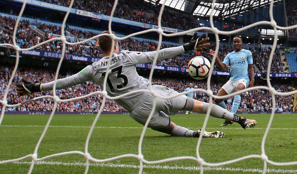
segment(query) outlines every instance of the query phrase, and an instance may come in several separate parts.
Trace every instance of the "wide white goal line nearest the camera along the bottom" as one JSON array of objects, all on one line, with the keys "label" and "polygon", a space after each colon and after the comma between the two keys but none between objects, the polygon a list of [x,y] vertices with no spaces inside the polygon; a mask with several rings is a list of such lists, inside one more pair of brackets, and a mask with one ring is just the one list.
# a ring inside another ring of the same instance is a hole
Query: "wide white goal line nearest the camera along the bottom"
[{"label": "wide white goal line nearest the camera along the bottom", "polygon": [[[31,162],[14,162],[15,164],[31,164]],[[64,166],[85,166],[83,162],[47,162],[37,161],[37,165],[64,165]],[[139,165],[127,165],[127,164],[113,164],[113,163],[90,163],[89,166],[99,167],[114,167],[114,168],[135,168],[139,169]],[[143,168],[147,169],[164,169],[164,170],[189,170],[199,171],[199,166],[162,166],[162,165],[143,165]],[[204,170],[215,171],[235,171],[235,172],[248,172],[248,173],[262,173],[263,169],[244,169],[244,168],[232,168],[232,167],[204,167]],[[267,169],[267,173],[297,173],[297,170],[282,170],[282,169]]]}]

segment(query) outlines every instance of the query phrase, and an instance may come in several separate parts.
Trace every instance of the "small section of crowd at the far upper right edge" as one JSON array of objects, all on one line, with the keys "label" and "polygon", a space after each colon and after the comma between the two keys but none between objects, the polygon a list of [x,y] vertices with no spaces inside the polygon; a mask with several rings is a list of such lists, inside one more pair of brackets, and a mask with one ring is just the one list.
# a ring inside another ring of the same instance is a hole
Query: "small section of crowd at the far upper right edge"
[{"label": "small section of crowd at the far upper right edge", "polygon": [[[287,24],[288,26],[297,24],[297,1],[286,0]],[[288,30],[290,37],[297,37],[297,29]]]}]

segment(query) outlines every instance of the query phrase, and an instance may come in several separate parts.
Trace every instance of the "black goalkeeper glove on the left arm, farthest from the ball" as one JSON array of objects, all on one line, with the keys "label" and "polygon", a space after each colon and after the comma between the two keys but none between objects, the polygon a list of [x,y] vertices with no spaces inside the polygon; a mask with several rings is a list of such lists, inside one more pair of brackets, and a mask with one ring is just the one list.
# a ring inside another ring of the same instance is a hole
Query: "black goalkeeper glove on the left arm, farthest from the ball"
[{"label": "black goalkeeper glove on the left arm, farthest from the ball", "polygon": [[34,92],[40,92],[40,84],[41,83],[33,83],[25,78],[22,79],[23,84],[18,83],[16,86],[17,93],[19,95],[27,95]]}]

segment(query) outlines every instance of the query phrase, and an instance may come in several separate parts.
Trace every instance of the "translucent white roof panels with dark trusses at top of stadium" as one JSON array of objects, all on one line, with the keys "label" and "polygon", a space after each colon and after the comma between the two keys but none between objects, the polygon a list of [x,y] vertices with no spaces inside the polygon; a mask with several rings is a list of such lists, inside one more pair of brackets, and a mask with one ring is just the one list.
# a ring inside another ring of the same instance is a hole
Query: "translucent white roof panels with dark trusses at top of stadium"
[{"label": "translucent white roof panels with dark trusses at top of stadium", "polygon": [[[152,4],[163,4],[164,0],[144,0]],[[230,17],[244,13],[249,9],[270,4],[271,0],[217,0],[214,7],[214,16]],[[282,0],[274,0],[275,2]],[[165,5],[196,16],[211,15],[212,0],[167,0]]]}]

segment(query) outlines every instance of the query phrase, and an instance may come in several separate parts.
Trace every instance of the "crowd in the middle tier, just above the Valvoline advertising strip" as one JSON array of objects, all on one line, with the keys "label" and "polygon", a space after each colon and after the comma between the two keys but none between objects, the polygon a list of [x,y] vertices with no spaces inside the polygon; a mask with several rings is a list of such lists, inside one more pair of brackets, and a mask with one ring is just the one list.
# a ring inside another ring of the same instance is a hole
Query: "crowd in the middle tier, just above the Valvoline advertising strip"
[{"label": "crowd in the middle tier, just above the Valvoline advertising strip", "polygon": [[[12,34],[13,34],[13,24],[15,23],[15,19],[12,17],[0,16],[0,42],[1,43],[12,43]],[[17,39],[16,42],[21,48],[29,48],[40,42],[45,40],[51,39],[53,34],[60,34],[61,27],[57,25],[48,25],[45,23],[36,23],[35,24],[40,30],[45,32],[45,36],[41,35],[40,33],[36,32],[35,30],[30,28],[30,22],[28,20],[20,21],[18,32],[17,32]],[[68,26],[66,27],[66,35],[71,33],[72,35],[76,36],[78,39],[86,39],[92,36],[95,36],[99,33],[95,33],[93,31],[82,31],[78,29],[72,29]],[[174,45],[171,44],[162,44],[161,48],[166,47],[173,47]],[[157,49],[157,43],[153,41],[139,41],[137,39],[126,39],[119,41],[120,50],[130,50],[130,51],[154,51]],[[214,47],[214,45],[212,45]],[[61,41],[52,41],[48,42],[40,47],[37,47],[36,50],[44,50],[49,52],[61,52],[62,50],[62,42]],[[228,54],[228,52],[232,52],[232,49],[228,48],[220,48],[219,49],[219,57],[221,60]],[[267,71],[268,67],[268,58],[271,52],[270,47],[262,48],[261,52],[258,50],[251,50],[253,53],[254,62],[260,69],[262,73]],[[74,55],[83,55],[83,56],[91,56],[91,57],[102,57],[102,52],[100,47],[96,45],[96,42],[86,42],[85,44],[76,44],[76,45],[66,45],[66,53],[67,54],[74,54]],[[158,65],[165,65],[165,66],[175,66],[175,67],[187,67],[187,63],[191,58],[196,55],[202,55],[209,60],[211,60],[211,56],[208,52],[197,51],[197,52],[189,52],[184,53],[182,55],[175,56],[170,59],[165,60],[158,60]],[[217,65],[215,64],[214,69],[218,69]],[[229,71],[229,69],[226,69]],[[274,53],[274,58],[271,66],[271,72],[273,73],[281,73],[283,72],[282,64],[280,60],[279,52],[276,50]]]}]

